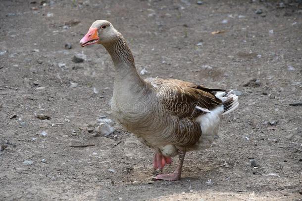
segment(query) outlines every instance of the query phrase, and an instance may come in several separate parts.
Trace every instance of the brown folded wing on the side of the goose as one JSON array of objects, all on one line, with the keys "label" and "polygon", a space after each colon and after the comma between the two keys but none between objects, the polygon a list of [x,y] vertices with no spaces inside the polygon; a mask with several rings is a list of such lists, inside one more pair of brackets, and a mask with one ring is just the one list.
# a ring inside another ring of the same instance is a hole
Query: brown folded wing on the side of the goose
[{"label": "brown folded wing on the side of the goose", "polygon": [[153,86],[153,90],[159,100],[161,109],[166,110],[178,118],[195,119],[204,111],[196,109],[199,106],[211,110],[222,104],[214,94],[220,89],[208,89],[201,85],[177,79],[146,79]]}]

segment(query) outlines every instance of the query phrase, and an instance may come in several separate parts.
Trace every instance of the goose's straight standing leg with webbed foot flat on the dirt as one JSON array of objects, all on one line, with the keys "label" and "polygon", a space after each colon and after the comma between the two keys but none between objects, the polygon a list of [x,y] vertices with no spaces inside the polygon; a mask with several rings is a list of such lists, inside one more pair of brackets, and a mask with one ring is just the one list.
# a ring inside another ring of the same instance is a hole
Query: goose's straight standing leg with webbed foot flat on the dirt
[{"label": "goose's straight standing leg with webbed foot flat on the dirt", "polygon": [[158,174],[152,180],[166,180],[177,181],[180,179],[183,162],[185,159],[186,151],[178,151],[178,164],[176,169],[171,174]]}]

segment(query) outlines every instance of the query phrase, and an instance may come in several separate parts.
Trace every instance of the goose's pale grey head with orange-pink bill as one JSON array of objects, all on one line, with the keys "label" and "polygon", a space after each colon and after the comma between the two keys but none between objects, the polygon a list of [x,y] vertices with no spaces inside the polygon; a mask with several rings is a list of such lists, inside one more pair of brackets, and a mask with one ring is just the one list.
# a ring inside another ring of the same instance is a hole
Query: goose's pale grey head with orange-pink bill
[{"label": "goose's pale grey head with orange-pink bill", "polygon": [[87,34],[80,40],[80,45],[85,47],[96,43],[112,43],[119,38],[120,33],[106,20],[97,20],[90,26]]}]

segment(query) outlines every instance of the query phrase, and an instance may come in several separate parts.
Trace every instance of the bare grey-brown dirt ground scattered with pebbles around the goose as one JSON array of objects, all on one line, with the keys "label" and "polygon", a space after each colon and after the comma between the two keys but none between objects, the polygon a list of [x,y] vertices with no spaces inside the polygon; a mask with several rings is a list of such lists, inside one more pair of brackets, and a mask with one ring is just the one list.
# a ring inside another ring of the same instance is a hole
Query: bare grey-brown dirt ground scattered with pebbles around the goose
[{"label": "bare grey-brown dirt ground scattered with pebbles around the goose", "polygon": [[[301,2],[199,3],[1,0],[0,200],[302,200],[302,106],[290,105],[302,102]],[[153,152],[114,122],[111,59],[79,46],[97,19],[124,35],[144,78],[240,95],[180,181],[151,181]]]}]

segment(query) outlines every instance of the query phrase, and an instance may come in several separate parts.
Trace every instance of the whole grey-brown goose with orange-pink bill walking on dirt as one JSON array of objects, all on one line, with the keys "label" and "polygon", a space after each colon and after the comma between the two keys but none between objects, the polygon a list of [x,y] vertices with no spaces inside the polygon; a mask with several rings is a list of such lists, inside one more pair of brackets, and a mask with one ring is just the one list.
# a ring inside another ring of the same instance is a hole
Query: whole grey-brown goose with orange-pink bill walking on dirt
[{"label": "whole grey-brown goose with orange-pink bill walking on dirt", "polygon": [[157,174],[152,180],[179,180],[186,152],[211,145],[220,117],[238,107],[238,97],[232,90],[177,79],[144,80],[125,38],[109,21],[95,21],[80,40],[82,47],[93,44],[101,44],[114,64],[110,105],[115,120],[155,151],[154,170],[162,171],[178,155],[173,173]]}]

